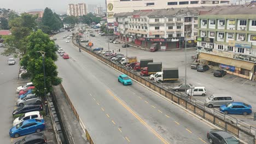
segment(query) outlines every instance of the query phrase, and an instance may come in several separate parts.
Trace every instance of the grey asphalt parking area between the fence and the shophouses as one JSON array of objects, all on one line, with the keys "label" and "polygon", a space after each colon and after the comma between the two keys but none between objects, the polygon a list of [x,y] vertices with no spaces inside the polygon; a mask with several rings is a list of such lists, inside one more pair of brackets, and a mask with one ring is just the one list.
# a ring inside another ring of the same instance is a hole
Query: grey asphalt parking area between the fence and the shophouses
[{"label": "grey asphalt parking area between the fence and the shophouses", "polygon": [[[94,31],[94,30],[93,30]],[[108,49],[107,37],[101,37],[94,32],[96,37],[90,37],[94,47],[103,47],[104,50]],[[83,35],[84,36],[84,35]],[[89,39],[88,34],[86,39]],[[122,44],[109,43],[109,49],[117,52],[120,49],[120,53],[126,55],[126,49],[121,47]],[[149,52],[137,49],[135,47],[127,48],[128,56],[137,56],[138,61],[142,58],[153,58],[154,62],[162,62],[163,68],[179,68],[179,81],[176,83],[167,83],[167,85],[174,87],[185,81],[185,53],[184,51],[157,51]],[[234,75],[226,75],[224,77],[214,77],[213,70],[206,71],[205,73],[197,72],[190,69],[190,64],[193,62],[191,56],[195,55],[194,50],[187,51],[187,83],[191,83],[193,86],[203,86],[206,88],[207,95],[209,97],[212,94],[225,94],[231,95],[235,101],[241,101],[252,105],[253,112],[256,107],[256,99],[254,98],[256,92],[256,82],[243,79]],[[206,97],[194,96],[194,98],[205,101]],[[218,107],[216,108],[218,109]],[[242,122],[246,122],[251,125],[255,125],[253,121],[253,113],[248,116],[231,115],[232,117],[241,119]]]}]

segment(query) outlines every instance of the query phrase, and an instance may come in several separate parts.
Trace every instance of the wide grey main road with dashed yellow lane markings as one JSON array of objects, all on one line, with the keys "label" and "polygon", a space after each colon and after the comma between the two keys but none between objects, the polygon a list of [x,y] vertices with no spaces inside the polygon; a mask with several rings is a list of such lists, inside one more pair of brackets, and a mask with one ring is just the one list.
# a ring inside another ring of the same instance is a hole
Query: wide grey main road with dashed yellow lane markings
[{"label": "wide grey main road with dashed yellow lane markings", "polygon": [[71,57],[59,57],[59,76],[95,143],[208,143],[211,125],[136,82],[121,85],[118,71],[65,43],[67,33],[56,35]]}]

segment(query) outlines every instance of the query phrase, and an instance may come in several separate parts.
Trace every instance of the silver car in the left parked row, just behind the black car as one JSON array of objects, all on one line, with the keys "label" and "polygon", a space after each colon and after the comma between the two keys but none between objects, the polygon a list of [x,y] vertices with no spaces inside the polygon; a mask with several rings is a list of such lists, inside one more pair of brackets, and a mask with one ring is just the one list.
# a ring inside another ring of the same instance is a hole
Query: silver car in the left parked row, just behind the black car
[{"label": "silver car in the left parked row, just behind the black car", "polygon": [[16,106],[24,106],[27,104],[41,104],[41,98],[35,94],[27,94],[25,98],[16,100]]}]

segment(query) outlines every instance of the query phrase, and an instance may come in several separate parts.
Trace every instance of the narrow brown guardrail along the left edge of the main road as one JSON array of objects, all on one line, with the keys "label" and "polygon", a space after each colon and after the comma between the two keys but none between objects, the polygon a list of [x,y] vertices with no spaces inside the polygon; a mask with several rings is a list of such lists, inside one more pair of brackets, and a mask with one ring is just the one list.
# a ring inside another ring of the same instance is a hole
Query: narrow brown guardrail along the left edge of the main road
[{"label": "narrow brown guardrail along the left edge of the main road", "polygon": [[84,125],[82,119],[80,119],[77,110],[75,110],[75,107],[74,107],[74,105],[72,104],[71,100],[69,99],[68,94],[66,93],[66,91],[65,91],[65,89],[63,88],[62,84],[60,84],[60,87],[61,87],[61,91],[64,93],[64,95],[65,95],[65,97],[66,97],[66,99],[67,99],[67,101],[68,101],[68,104],[71,106],[71,109],[72,109],[72,111],[74,112],[75,117],[77,117],[77,120],[78,120],[79,124],[81,125],[81,127],[82,127],[82,129],[83,129],[83,131],[84,131],[84,133],[85,133],[85,136],[87,137],[87,139],[88,139],[88,141],[90,142],[90,144],[94,144],[94,142],[93,142],[92,139],[91,139],[91,136],[89,135],[88,130],[86,129],[86,127],[85,127],[85,125]]}]

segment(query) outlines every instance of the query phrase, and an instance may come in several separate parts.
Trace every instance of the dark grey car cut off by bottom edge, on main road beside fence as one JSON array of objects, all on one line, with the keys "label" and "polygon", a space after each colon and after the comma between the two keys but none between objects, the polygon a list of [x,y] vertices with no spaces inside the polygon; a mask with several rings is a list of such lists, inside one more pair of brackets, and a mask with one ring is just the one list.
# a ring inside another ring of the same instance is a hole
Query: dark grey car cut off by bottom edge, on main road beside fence
[{"label": "dark grey car cut off by bottom edge, on main road beside fence", "polygon": [[228,132],[220,129],[211,129],[207,132],[207,139],[214,144],[239,144],[240,141]]}]

